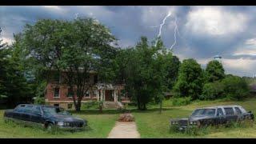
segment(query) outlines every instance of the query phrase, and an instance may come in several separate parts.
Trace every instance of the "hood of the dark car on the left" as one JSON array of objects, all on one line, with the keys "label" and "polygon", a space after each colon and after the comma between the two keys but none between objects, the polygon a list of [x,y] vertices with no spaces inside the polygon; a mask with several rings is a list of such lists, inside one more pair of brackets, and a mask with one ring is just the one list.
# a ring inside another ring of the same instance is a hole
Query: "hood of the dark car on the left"
[{"label": "hood of the dark car on the left", "polygon": [[58,122],[85,122],[85,120],[82,118],[77,118],[71,115],[62,115],[62,114],[48,115],[47,118],[50,118]]}]

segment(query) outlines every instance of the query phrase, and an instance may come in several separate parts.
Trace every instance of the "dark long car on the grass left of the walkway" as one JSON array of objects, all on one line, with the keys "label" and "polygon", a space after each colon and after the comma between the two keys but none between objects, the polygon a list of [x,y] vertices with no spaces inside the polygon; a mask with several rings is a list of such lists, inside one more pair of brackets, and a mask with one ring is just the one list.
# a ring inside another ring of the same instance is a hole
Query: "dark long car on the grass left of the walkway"
[{"label": "dark long car on the grass left of the walkway", "polygon": [[6,110],[4,118],[14,122],[36,124],[47,130],[51,130],[53,127],[78,130],[87,125],[86,120],[75,118],[58,106],[21,104],[16,106],[14,110]]}]

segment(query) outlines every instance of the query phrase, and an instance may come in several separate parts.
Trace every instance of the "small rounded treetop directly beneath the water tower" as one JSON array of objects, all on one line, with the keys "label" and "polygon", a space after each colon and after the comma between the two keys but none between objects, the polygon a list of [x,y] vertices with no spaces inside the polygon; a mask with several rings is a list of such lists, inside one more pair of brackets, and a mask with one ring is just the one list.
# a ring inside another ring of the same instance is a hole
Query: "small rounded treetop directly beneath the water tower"
[{"label": "small rounded treetop directly beneath the water tower", "polygon": [[225,70],[221,62],[213,60],[208,62],[206,66],[206,74],[208,82],[215,82],[225,78]]}]

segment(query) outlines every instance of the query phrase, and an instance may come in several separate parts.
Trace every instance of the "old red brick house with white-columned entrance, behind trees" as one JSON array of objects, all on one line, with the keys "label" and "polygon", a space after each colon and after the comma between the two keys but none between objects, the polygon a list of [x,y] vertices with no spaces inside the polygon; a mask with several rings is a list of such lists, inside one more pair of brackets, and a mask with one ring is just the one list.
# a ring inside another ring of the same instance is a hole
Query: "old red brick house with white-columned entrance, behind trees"
[{"label": "old red brick house with white-columned entrance, behind trees", "polygon": [[[66,109],[74,109],[74,102],[69,86],[61,84],[62,77],[57,72],[50,73],[54,76],[50,78],[46,86],[46,103],[52,106],[61,106]],[[90,72],[90,82],[94,83],[91,90],[88,90],[82,98],[82,103],[90,101],[103,100],[108,104],[122,105],[126,102],[127,97],[122,84],[107,84],[98,82],[98,74]],[[76,95],[74,94],[76,98]]]}]

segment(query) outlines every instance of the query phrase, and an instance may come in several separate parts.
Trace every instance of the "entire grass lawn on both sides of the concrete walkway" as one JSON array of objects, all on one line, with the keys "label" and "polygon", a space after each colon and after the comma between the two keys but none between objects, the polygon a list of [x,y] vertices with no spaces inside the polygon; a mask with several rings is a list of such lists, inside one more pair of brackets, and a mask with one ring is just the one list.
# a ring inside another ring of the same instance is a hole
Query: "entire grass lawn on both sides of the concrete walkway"
[{"label": "entire grass lawn on both sides of the concrete walkway", "polygon": [[[238,104],[246,110],[256,113],[256,98],[249,98],[243,102],[198,101],[188,106],[172,106],[171,100],[163,103],[162,114],[159,114],[158,106],[151,105],[146,111],[136,110],[129,106],[134,114],[138,132],[142,138],[256,138],[256,123],[251,126],[235,126],[230,128],[209,128],[197,135],[170,132],[170,118],[187,118],[191,112],[198,107]],[[74,116],[86,118],[90,129],[79,132],[58,131],[55,134],[34,127],[20,126],[14,123],[3,121],[3,111],[0,110],[0,138],[106,138],[118,118],[119,110],[82,110],[82,112],[71,113]]]}]

